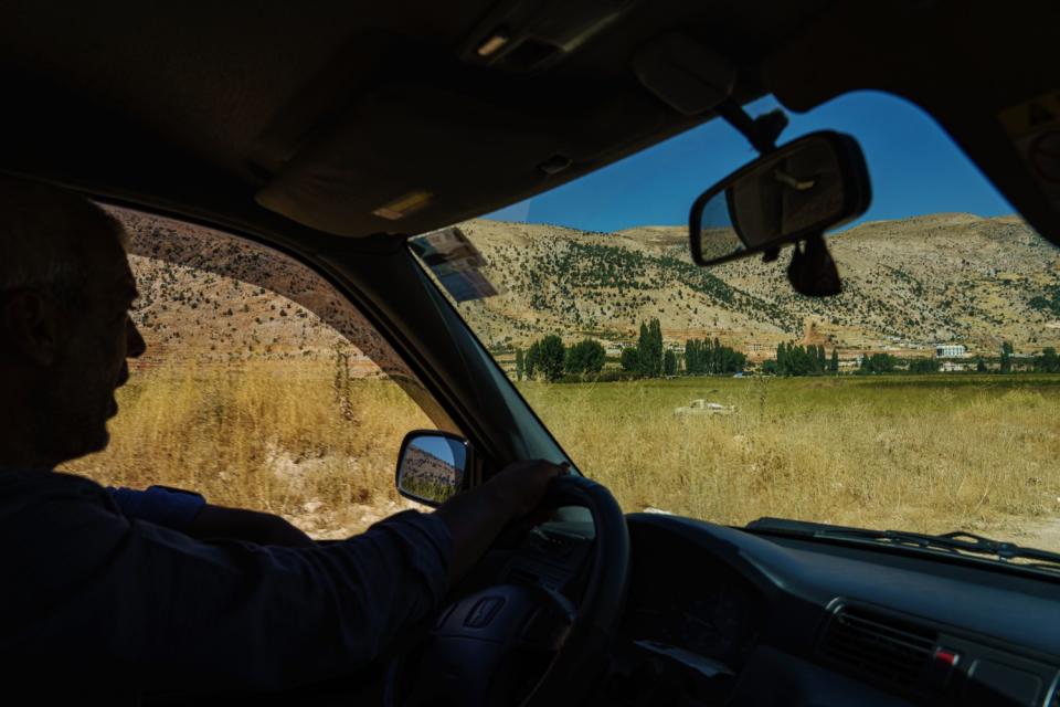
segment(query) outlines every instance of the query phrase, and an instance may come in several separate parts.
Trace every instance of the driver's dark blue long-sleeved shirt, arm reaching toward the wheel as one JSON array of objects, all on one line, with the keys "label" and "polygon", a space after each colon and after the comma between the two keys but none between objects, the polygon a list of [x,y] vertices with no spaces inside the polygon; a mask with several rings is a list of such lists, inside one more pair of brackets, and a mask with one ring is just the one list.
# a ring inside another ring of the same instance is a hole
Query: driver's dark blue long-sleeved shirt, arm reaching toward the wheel
[{"label": "driver's dark blue long-sleeved shirt, arm reaching toward the wheel", "polygon": [[314,548],[203,542],[130,519],[86,478],[3,471],[0,666],[46,667],[57,682],[42,689],[130,704],[145,689],[326,679],[437,606],[451,555],[434,515],[401,513]]}]

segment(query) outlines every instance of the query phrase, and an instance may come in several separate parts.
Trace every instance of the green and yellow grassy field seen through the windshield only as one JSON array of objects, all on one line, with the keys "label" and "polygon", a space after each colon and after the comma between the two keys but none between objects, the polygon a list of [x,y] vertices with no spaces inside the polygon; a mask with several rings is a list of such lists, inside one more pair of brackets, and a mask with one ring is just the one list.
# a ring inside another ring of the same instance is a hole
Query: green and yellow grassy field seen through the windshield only
[{"label": "green and yellow grassy field seen through the windshield only", "polygon": [[[1060,519],[1060,376],[686,378],[520,390],[580,468],[627,510],[1015,539]],[[697,398],[735,412],[674,414]]]}]

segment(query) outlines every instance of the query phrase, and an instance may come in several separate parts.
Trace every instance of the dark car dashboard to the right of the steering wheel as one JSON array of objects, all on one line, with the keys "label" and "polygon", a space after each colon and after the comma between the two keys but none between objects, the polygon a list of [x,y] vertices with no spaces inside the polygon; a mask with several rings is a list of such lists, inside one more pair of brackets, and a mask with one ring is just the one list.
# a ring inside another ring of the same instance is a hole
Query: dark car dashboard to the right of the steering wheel
[{"label": "dark car dashboard to the right of the steering wheel", "polygon": [[1060,707],[1060,578],[627,516],[621,705]]}]

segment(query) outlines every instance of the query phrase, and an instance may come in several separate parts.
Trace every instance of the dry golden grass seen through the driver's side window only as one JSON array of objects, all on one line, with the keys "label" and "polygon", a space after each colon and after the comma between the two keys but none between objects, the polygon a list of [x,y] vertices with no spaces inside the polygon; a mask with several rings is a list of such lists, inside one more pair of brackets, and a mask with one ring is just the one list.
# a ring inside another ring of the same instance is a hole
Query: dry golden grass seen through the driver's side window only
[{"label": "dry golden grass seen through the driver's side window only", "polygon": [[395,383],[353,379],[343,392],[320,361],[174,362],[134,373],[118,404],[107,451],[68,471],[115,486],[194,489],[316,535],[357,531],[402,507],[393,484],[401,440],[434,426]]}]

